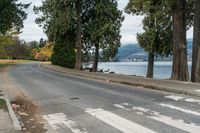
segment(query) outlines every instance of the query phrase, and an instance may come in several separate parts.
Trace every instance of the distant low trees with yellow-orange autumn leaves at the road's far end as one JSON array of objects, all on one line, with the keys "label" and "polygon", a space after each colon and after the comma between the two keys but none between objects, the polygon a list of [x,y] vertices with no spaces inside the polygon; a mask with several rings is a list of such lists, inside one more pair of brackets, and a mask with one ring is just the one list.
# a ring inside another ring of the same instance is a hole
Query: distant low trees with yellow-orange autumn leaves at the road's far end
[{"label": "distant low trees with yellow-orange autumn leaves at the road's far end", "polygon": [[52,53],[53,44],[43,39],[26,42],[12,36],[6,45],[0,45],[0,59],[50,61]]}]

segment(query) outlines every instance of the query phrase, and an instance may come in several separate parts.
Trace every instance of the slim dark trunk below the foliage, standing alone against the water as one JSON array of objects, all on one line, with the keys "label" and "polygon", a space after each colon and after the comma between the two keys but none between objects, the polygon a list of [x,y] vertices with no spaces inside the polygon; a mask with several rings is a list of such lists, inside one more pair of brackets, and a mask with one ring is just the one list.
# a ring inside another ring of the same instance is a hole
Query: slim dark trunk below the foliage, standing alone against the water
[{"label": "slim dark trunk below the foliage, standing alone against the water", "polygon": [[148,68],[147,68],[147,78],[153,78],[154,69],[154,53],[149,53],[148,57]]}]

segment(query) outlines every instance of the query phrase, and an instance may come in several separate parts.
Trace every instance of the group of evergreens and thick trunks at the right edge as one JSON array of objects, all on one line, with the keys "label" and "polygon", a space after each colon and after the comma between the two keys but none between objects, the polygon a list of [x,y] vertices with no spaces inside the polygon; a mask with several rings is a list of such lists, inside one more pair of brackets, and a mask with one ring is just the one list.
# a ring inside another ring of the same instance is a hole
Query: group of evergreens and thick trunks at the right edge
[{"label": "group of evergreens and thick trunks at the right edge", "polygon": [[186,31],[194,26],[191,80],[200,82],[200,1],[129,0],[125,11],[143,15],[144,33],[137,39],[149,53],[147,77],[153,77],[154,58],[173,55],[173,80],[189,81]]}]

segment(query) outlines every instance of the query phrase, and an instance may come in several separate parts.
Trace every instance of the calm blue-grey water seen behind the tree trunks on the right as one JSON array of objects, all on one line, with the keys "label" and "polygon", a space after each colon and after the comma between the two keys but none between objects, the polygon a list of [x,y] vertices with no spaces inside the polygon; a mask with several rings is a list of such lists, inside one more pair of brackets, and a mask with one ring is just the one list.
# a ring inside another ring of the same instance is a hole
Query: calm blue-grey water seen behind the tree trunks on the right
[{"label": "calm blue-grey water seen behind the tree trunks on the right", "polygon": [[[147,62],[108,62],[99,63],[98,69],[108,70],[116,74],[146,76]],[[191,62],[189,62],[191,70]],[[169,79],[171,77],[172,62],[155,62],[154,78]]]}]

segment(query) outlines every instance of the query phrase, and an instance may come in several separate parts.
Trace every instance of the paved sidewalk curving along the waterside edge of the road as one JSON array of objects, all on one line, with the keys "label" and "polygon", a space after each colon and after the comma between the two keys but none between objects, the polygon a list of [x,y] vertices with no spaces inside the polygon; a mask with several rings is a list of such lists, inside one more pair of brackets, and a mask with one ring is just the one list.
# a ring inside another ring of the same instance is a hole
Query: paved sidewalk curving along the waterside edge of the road
[{"label": "paved sidewalk curving along the waterside edge of the road", "polygon": [[190,95],[200,99],[200,84],[191,82],[181,82],[172,80],[158,80],[158,79],[147,79],[144,77],[126,76],[118,74],[105,74],[105,73],[91,73],[84,71],[77,71],[68,69],[60,66],[42,63],[41,67],[80,77],[86,77],[91,79],[109,81],[114,83],[122,83],[133,86],[143,86],[145,88],[179,93]]}]

